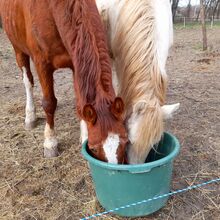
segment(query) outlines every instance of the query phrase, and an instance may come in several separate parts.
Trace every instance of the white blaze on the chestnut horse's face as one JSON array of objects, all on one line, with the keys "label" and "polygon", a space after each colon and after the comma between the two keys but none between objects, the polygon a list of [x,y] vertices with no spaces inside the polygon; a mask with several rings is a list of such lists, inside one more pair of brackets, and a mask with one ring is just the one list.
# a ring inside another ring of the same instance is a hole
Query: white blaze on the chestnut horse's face
[{"label": "white blaze on the chestnut horse's face", "polygon": [[116,153],[119,146],[119,142],[120,139],[118,134],[112,134],[112,133],[108,134],[108,137],[105,143],[103,144],[103,149],[105,152],[106,159],[109,163],[114,163],[114,164],[118,163]]}]

